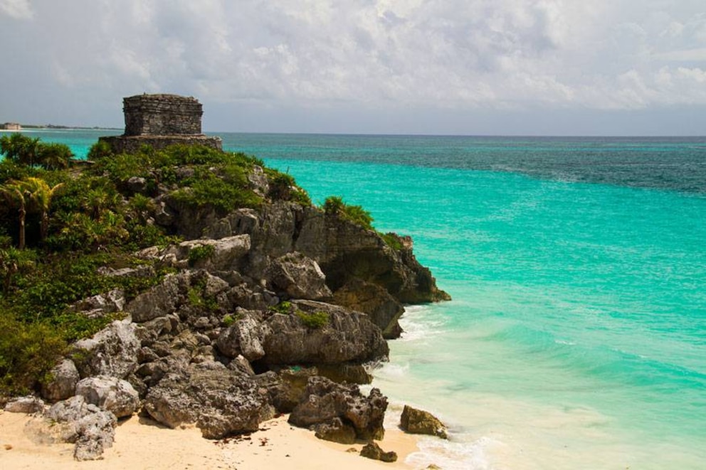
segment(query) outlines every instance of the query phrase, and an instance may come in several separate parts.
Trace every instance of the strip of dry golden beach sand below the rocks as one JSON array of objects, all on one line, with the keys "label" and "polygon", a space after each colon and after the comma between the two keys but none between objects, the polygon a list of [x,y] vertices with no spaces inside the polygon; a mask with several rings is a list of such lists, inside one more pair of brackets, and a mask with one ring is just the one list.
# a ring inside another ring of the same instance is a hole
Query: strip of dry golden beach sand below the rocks
[{"label": "strip of dry golden beach sand below the rocks", "polygon": [[169,429],[152,420],[131,417],[120,422],[115,444],[99,461],[73,460],[73,444],[42,444],[26,426],[31,417],[0,412],[0,469],[411,469],[406,456],[416,452],[416,439],[398,429],[386,429],[379,442],[394,450],[394,464],[365,459],[362,444],[335,444],[317,439],[306,429],[292,427],[287,417],[260,424],[249,438],[211,441],[199,429]]}]

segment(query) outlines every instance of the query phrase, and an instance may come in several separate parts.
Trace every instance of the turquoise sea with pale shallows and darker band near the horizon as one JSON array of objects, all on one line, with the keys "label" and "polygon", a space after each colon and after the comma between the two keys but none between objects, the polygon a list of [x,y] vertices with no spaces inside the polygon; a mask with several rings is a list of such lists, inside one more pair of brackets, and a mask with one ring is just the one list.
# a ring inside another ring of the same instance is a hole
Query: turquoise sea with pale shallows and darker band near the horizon
[{"label": "turquoise sea with pale shallows and darker band near the horizon", "polygon": [[706,138],[220,135],[411,235],[453,297],[375,373],[390,425],[451,427],[409,463],[706,468]]}]

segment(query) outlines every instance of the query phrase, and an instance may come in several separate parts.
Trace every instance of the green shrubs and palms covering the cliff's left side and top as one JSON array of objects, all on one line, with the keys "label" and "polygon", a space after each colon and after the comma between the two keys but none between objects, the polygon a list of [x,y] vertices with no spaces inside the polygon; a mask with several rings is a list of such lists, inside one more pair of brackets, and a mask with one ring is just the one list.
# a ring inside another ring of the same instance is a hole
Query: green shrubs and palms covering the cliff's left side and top
[{"label": "green shrubs and palms covering the cliff's left side and top", "polygon": [[[94,164],[81,170],[69,167],[68,147],[22,134],[1,137],[0,152],[0,393],[36,390],[70,342],[117,318],[89,319],[73,304],[111,289],[130,300],[161,282],[166,269],[147,278],[110,277],[98,269],[143,265],[133,252],[180,240],[154,223],[155,196],[216,213],[258,208],[265,198],[308,201],[290,176],[270,169],[260,173],[270,191],[258,194],[248,176],[261,160],[202,146],[112,154],[99,141],[88,154]],[[144,184],[136,189],[133,177]],[[189,262],[206,260],[213,250],[197,247]],[[194,287],[191,304],[218,309],[203,292]]]}]

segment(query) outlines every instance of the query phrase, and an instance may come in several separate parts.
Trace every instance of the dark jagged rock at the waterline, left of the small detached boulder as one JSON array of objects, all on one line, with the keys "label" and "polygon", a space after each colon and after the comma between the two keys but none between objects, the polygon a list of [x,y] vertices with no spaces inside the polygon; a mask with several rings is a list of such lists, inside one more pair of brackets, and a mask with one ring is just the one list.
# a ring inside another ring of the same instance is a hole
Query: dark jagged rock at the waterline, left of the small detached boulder
[{"label": "dark jagged rock at the waterline, left of the small detached boulder", "polygon": [[339,418],[355,429],[358,439],[382,439],[387,398],[373,388],[364,397],[357,385],[341,385],[323,377],[312,377],[307,383],[302,402],[295,407],[289,422],[295,426],[332,424]]}]

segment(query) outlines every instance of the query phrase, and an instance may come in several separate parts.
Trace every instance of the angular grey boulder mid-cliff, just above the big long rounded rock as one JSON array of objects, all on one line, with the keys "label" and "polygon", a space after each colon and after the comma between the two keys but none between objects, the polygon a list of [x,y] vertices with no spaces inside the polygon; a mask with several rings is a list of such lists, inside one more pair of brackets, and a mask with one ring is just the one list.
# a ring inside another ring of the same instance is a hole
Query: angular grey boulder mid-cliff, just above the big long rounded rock
[{"label": "angular grey boulder mid-cliff, just above the big long rounded rock", "polygon": [[331,297],[326,276],[309,257],[299,252],[287,253],[272,262],[268,277],[280,297],[322,300]]}]

